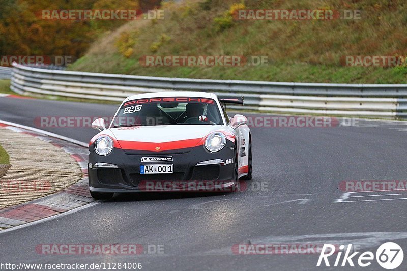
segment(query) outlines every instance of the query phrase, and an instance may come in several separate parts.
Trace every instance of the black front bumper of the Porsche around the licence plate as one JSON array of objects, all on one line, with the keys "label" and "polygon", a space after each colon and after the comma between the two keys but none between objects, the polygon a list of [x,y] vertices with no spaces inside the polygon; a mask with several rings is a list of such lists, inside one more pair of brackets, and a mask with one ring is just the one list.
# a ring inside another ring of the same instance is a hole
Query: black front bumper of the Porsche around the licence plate
[{"label": "black front bumper of the Porsche around the licence plate", "polygon": [[[118,193],[227,191],[235,187],[233,156],[234,144],[229,141],[216,153],[210,153],[204,146],[172,152],[134,152],[114,148],[110,154],[100,156],[92,145],[88,167],[89,189],[92,192]],[[172,157],[172,161],[141,162],[146,157]],[[209,164],[201,163],[207,161]],[[173,164],[173,173],[140,174],[140,165],[152,164]]]}]

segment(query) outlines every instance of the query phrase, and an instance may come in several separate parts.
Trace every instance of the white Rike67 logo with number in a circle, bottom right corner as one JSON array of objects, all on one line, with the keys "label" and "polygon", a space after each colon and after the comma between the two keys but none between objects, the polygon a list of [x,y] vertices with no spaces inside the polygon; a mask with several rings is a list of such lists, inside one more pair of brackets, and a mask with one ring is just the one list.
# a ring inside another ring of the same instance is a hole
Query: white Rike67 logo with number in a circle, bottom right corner
[{"label": "white Rike67 logo with number in a circle, bottom right corner", "polygon": [[[325,266],[331,266],[328,258],[333,254],[336,254],[335,263],[333,264],[335,267],[355,266],[354,261],[361,267],[367,267],[372,264],[372,261],[376,258],[376,261],[380,266],[391,270],[399,267],[404,259],[403,250],[398,244],[393,242],[382,244],[376,250],[376,254],[373,254],[373,252],[370,251],[363,252],[360,255],[358,255],[360,253],[359,251],[351,254],[352,244],[348,244],[347,247],[345,247],[345,245],[340,245],[338,251],[336,251],[335,248],[334,245],[324,244],[316,266],[319,267],[322,263],[324,263]],[[344,256],[342,258],[343,252]]]}]

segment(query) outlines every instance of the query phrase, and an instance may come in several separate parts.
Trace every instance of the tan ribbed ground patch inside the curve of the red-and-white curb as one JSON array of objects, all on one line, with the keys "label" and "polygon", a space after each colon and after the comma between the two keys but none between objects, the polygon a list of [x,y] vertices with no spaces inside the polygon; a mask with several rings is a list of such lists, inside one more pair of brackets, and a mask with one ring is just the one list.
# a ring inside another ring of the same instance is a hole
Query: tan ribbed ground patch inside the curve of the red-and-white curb
[{"label": "tan ribbed ground patch inside the curve of the red-and-white curb", "polygon": [[10,156],[0,177],[0,209],[53,194],[82,177],[74,157],[30,132],[0,127],[0,145]]}]

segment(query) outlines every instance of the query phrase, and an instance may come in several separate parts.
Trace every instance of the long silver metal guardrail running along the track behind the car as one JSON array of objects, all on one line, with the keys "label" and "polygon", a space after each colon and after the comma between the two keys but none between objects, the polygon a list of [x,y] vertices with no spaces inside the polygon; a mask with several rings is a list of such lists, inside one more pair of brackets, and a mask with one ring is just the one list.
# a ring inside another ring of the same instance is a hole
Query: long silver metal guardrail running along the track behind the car
[{"label": "long silver metal guardrail running along the track behind the car", "polygon": [[245,96],[245,106],[233,109],[407,118],[407,85],[317,84],[240,80],[209,80],[103,74],[39,69],[13,64],[11,88],[20,94],[56,95],[122,101],[125,97],[157,91],[210,91]]}]

